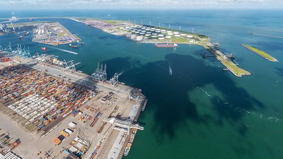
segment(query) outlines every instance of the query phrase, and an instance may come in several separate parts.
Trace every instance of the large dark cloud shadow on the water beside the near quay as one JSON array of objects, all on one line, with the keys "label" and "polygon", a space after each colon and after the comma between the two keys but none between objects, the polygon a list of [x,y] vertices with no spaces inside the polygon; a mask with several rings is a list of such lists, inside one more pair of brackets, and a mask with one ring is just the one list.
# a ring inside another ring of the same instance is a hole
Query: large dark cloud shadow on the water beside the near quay
[{"label": "large dark cloud shadow on the water beside the near quay", "polygon": [[[173,76],[169,78],[168,60],[149,62],[141,64],[132,61],[130,57],[114,58],[104,61],[108,70],[123,70],[122,80],[132,86],[142,88],[147,95],[149,102],[146,111],[154,111],[154,134],[160,142],[164,135],[174,138],[175,131],[181,126],[187,125],[186,120],[191,120],[199,124],[209,122],[222,126],[228,121],[235,131],[241,135],[246,134],[245,127],[234,126],[235,122],[240,122],[243,113],[235,111],[240,107],[245,110],[254,110],[256,107],[264,106],[252,97],[243,88],[235,86],[236,83],[226,72],[219,71],[219,67],[206,66],[202,60],[195,59],[189,55],[168,54],[166,59],[173,59]],[[197,110],[197,104],[191,101],[188,93],[198,87],[212,84],[223,95],[223,101],[211,98],[213,111],[217,117],[210,114],[201,115]],[[228,103],[224,104],[224,103]],[[232,105],[232,107],[230,106]],[[147,128],[148,129],[148,128]]]}]

